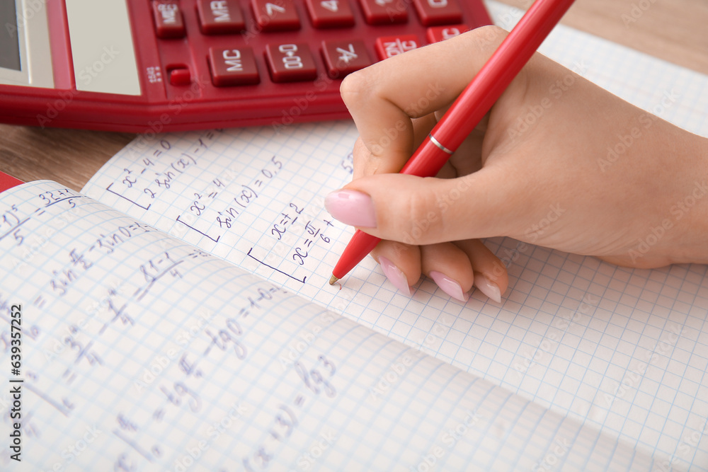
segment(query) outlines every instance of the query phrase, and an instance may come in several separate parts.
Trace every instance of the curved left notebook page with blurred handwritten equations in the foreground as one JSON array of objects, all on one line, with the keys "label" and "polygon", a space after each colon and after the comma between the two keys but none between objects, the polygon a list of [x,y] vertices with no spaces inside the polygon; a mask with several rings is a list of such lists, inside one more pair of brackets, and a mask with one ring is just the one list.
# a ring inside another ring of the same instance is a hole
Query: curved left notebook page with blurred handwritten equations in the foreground
[{"label": "curved left notebook page with blurred handwritten equations in the foreground", "polygon": [[7,327],[2,338],[4,379],[23,380],[6,383],[21,392],[22,462],[4,415],[4,468],[651,466],[59,184],[7,190],[0,214],[0,316],[8,327],[20,313],[23,333],[14,375]]}]

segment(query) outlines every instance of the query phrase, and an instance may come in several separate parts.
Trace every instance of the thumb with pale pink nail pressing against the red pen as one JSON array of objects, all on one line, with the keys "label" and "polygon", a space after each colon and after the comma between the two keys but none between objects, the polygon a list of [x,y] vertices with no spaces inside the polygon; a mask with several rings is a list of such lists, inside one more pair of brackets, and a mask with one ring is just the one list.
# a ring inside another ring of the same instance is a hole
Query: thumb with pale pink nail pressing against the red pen
[{"label": "thumb with pale pink nail pressing against the red pen", "polygon": [[502,205],[514,192],[498,168],[459,178],[376,174],[325,198],[327,211],[368,234],[411,245],[503,236]]}]

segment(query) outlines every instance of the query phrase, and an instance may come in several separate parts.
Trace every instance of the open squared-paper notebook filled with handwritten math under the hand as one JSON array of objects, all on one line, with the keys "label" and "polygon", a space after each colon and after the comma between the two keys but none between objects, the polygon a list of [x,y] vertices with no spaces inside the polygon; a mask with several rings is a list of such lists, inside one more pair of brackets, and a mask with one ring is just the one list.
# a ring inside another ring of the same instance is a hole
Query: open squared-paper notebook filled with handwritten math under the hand
[{"label": "open squared-paper notebook filled with handwritten math under the hand", "polygon": [[[520,16],[489,7],[505,28]],[[705,76],[564,27],[542,52],[708,135]],[[429,280],[405,297],[371,260],[330,286],[351,233],[322,199],[350,179],[355,137],[346,121],[145,134],[80,194],[4,192],[2,364],[22,417],[5,417],[0,464],[707,467],[705,266],[631,270],[492,238],[501,304]]]}]

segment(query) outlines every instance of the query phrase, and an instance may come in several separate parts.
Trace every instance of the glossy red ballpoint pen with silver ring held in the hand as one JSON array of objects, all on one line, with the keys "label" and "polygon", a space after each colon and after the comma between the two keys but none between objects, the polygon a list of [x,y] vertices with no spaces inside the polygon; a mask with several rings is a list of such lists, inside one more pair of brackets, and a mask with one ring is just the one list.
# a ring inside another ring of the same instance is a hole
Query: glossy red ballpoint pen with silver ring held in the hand
[{"label": "glossy red ballpoint pen with silver ring held in the hand", "polygon": [[[573,0],[537,0],[498,49],[459,94],[455,103],[401,169],[401,173],[432,177],[479,124],[523,69],[543,40],[573,4]],[[334,284],[354,268],[381,238],[357,230],[332,270]]]}]

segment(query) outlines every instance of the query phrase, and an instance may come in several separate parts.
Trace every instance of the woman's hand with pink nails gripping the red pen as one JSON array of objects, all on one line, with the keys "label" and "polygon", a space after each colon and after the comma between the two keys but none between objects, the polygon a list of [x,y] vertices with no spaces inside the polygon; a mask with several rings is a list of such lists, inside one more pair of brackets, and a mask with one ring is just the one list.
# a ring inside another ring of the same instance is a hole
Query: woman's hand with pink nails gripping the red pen
[{"label": "woman's hand with pink nails gripping the red pen", "polygon": [[397,173],[506,36],[489,26],[347,76],[360,132],[333,217],[384,239],[396,287],[421,274],[461,301],[500,301],[506,267],[479,241],[510,236],[633,267],[708,262],[707,139],[535,54],[435,178]]}]

